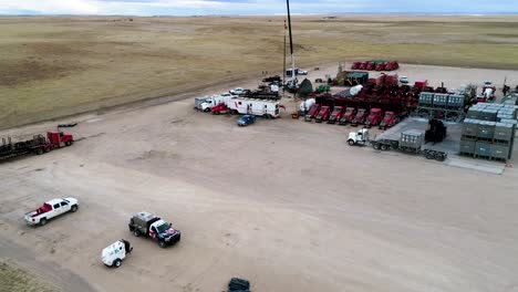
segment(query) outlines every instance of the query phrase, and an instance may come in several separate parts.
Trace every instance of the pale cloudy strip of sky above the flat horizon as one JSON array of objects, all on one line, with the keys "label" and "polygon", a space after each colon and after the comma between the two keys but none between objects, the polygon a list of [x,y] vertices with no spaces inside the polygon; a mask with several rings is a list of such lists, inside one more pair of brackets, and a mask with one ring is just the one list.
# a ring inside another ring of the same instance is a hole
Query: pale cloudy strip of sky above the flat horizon
[{"label": "pale cloudy strip of sky above the flat horizon", "polygon": [[[293,13],[518,13],[518,0],[291,0]],[[284,0],[0,0],[0,14],[282,14]]]}]

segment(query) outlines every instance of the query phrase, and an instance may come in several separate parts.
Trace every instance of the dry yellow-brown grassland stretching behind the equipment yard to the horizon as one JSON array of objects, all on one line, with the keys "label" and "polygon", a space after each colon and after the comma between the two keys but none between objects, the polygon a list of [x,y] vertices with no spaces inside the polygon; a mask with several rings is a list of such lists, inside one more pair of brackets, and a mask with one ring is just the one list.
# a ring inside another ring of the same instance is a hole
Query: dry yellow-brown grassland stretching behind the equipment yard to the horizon
[{"label": "dry yellow-brown grassland stretching behind the equipment yard to the horizon", "polygon": [[[281,71],[257,18],[0,18],[0,128]],[[294,18],[298,65],[397,59],[518,70],[518,17]]]}]

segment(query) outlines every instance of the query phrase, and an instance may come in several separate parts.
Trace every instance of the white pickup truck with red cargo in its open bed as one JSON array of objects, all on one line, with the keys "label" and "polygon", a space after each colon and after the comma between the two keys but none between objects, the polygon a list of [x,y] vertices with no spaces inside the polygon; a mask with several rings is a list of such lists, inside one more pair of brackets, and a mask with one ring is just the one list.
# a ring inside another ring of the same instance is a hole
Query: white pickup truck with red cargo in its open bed
[{"label": "white pickup truck with red cargo in its open bed", "polygon": [[65,212],[75,212],[79,201],[74,198],[53,199],[46,201],[40,208],[25,213],[25,221],[29,225],[46,225],[46,221]]}]

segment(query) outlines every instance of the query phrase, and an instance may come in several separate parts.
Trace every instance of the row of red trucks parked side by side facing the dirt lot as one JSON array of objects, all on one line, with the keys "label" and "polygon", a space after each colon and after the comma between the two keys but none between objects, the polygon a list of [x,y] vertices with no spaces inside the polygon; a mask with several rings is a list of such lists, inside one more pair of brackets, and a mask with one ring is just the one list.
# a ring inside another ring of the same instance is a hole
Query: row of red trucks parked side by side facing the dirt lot
[{"label": "row of red trucks parked side by side facing the dirt lot", "polygon": [[359,126],[364,125],[365,127],[379,126],[380,128],[388,128],[400,122],[400,115],[395,112],[386,111],[382,108],[355,108],[355,107],[343,107],[343,106],[331,106],[320,104],[313,104],[307,115],[304,116],[305,122],[314,119],[315,123],[328,122],[328,124],[339,125],[352,125]]}]

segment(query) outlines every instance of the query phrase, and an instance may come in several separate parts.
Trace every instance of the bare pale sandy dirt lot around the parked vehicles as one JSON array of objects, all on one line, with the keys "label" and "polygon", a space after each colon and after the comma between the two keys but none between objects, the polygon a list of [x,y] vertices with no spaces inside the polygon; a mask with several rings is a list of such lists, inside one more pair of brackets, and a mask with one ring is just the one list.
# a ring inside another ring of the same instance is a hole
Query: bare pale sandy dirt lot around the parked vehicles
[{"label": "bare pale sandy dirt lot around the parked vehicles", "polygon": [[[518,81],[490,70],[402,74],[452,86]],[[487,175],[350,147],[351,127],[293,121],[290,111],[240,128],[191,107],[81,116],[73,147],[0,165],[0,258],[74,292],[224,291],[231,277],[253,291],[518,291],[514,168]],[[65,196],[80,199],[79,212],[23,223],[25,211]],[[163,250],[134,238],[126,225],[141,210],[170,220],[182,242]],[[107,269],[101,250],[121,238],[134,252]]]}]

